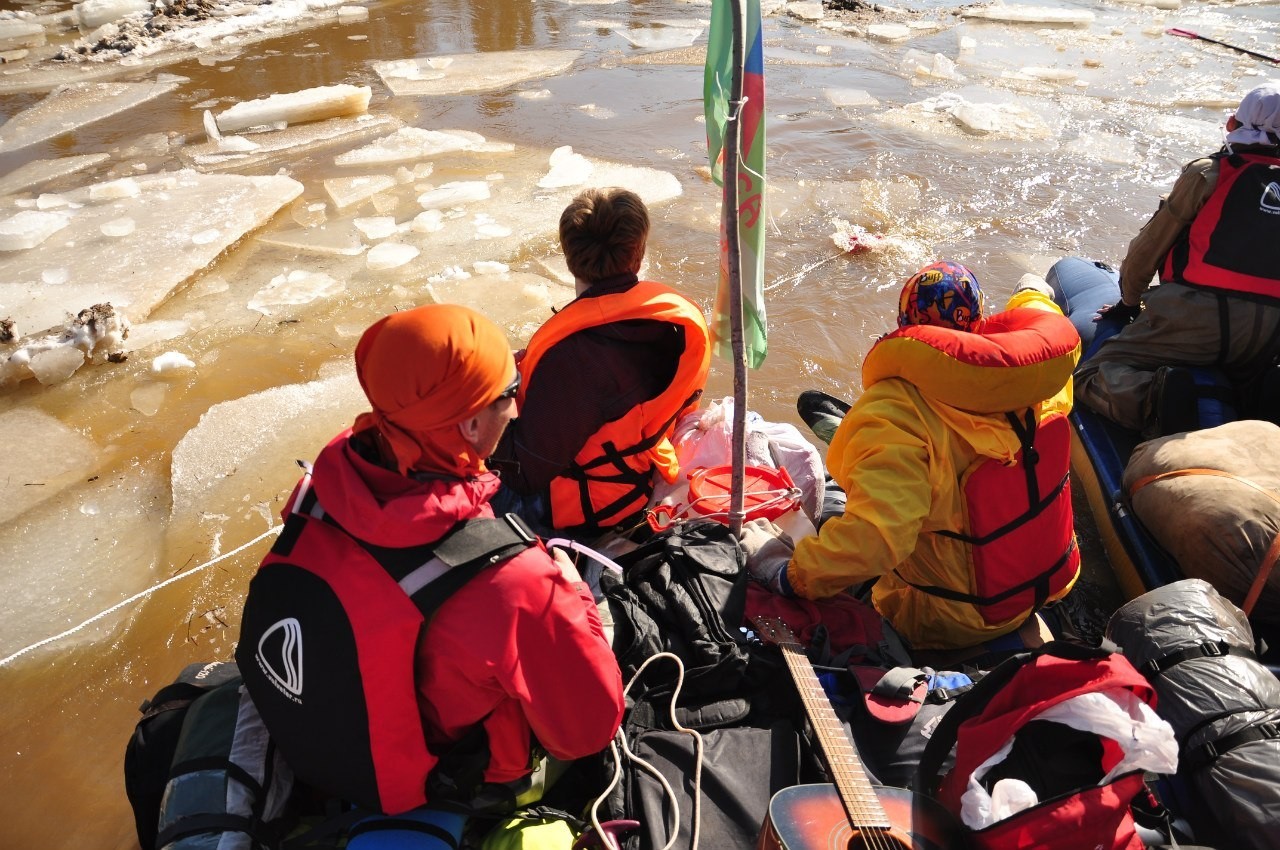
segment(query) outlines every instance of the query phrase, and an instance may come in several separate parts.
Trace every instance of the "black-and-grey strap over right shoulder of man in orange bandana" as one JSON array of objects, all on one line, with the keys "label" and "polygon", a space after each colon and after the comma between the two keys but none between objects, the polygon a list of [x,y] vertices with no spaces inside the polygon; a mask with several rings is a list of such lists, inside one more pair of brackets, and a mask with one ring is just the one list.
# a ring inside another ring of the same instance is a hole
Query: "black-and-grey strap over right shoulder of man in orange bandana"
[{"label": "black-and-grey strap over right shoulder of man in orange bandana", "polygon": [[448,570],[410,593],[410,599],[424,617],[430,617],[477,572],[516,557],[535,543],[538,536],[515,513],[494,520],[463,520],[433,550]]}]

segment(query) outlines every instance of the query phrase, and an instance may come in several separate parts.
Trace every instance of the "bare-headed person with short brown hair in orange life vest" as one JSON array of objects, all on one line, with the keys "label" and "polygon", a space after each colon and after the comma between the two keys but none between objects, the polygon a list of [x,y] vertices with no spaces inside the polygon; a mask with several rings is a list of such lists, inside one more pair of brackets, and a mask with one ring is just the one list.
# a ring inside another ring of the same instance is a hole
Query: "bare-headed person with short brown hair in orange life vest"
[{"label": "bare-headed person with short brown hair in orange life vest", "polygon": [[676,480],[671,434],[710,366],[701,310],[640,280],[649,214],[621,188],[581,192],[559,241],[577,297],[520,357],[520,417],[494,452],[499,509],[594,538],[637,522],[657,484]]}]

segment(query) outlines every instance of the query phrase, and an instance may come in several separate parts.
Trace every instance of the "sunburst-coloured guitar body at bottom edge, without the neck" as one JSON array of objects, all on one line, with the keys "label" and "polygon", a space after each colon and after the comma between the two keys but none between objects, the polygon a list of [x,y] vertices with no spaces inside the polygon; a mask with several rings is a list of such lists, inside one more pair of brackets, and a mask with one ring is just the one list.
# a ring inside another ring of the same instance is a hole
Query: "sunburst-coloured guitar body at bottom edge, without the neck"
[{"label": "sunburst-coloured guitar body at bottom edge, without the neck", "polygon": [[963,846],[950,813],[925,796],[874,786],[888,830],[855,830],[833,785],[795,785],[769,800],[756,850],[952,850]]}]

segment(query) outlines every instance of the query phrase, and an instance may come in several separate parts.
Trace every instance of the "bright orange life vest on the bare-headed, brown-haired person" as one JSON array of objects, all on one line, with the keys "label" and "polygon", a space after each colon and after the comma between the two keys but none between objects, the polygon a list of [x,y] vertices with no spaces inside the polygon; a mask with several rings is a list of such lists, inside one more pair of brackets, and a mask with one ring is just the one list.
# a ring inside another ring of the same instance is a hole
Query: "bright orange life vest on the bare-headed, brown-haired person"
[{"label": "bright orange life vest on the bare-headed, brown-haired person", "polygon": [[625,292],[577,298],[552,316],[529,341],[520,361],[517,403],[538,379],[538,361],[557,343],[580,330],[614,321],[648,319],[678,326],[684,352],[671,384],[655,398],[636,405],[593,434],[573,462],[550,483],[552,526],[599,534],[639,517],[653,495],[654,472],[675,483],[680,463],[671,433],[698,403],[710,344],[701,310],[671,287],[640,280]]}]

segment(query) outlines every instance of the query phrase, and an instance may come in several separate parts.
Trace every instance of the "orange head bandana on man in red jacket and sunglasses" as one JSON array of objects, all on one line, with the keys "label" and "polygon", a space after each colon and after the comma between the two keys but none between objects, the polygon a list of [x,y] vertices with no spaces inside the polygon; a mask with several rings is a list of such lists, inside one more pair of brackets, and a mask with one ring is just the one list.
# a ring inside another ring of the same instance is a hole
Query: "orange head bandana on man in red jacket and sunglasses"
[{"label": "orange head bandana on man in red jacket and sunglasses", "polygon": [[492,405],[515,373],[506,335],[475,310],[440,303],[392,314],[356,346],[356,376],[374,410],[353,430],[376,428],[401,474],[475,476],[484,458],[457,426]]}]

